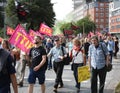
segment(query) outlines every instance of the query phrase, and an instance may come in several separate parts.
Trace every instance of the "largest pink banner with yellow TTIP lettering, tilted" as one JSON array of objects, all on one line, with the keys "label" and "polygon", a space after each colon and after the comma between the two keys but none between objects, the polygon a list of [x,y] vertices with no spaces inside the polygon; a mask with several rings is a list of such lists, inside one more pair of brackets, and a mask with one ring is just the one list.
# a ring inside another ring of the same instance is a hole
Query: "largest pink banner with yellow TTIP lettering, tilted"
[{"label": "largest pink banner with yellow TTIP lettering, tilted", "polygon": [[25,29],[21,25],[17,26],[15,32],[10,37],[9,42],[24,52],[28,52],[29,49],[34,46],[28,34],[25,32]]}]

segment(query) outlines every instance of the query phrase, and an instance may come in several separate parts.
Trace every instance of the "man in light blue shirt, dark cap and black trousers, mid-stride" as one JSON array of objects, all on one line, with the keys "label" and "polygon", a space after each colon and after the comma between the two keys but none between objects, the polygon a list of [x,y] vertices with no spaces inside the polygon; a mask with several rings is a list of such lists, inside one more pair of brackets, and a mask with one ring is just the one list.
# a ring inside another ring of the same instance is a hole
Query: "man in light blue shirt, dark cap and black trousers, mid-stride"
[{"label": "man in light blue shirt, dark cap and black trousers, mid-stride", "polygon": [[[52,56],[53,67],[56,74],[55,84],[54,84],[54,92],[57,92],[58,85],[59,88],[63,87],[62,73],[64,68],[63,58],[67,56],[65,47],[61,46],[61,42],[59,38],[55,39],[55,46],[50,50],[48,56]],[[62,51],[63,48],[63,51]],[[64,53],[63,53],[64,52]],[[64,55],[63,55],[64,54]]]}]

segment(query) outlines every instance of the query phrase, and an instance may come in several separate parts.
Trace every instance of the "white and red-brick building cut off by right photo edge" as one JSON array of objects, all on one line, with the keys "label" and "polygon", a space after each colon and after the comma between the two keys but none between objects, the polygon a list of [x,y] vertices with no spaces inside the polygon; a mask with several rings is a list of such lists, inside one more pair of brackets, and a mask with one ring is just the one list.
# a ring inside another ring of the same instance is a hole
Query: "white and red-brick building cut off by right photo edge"
[{"label": "white and red-brick building cut off by right photo edge", "polygon": [[109,4],[109,31],[120,34],[120,0],[114,0]]}]

